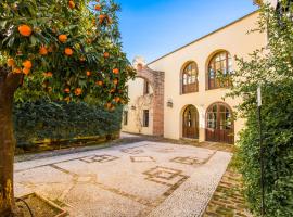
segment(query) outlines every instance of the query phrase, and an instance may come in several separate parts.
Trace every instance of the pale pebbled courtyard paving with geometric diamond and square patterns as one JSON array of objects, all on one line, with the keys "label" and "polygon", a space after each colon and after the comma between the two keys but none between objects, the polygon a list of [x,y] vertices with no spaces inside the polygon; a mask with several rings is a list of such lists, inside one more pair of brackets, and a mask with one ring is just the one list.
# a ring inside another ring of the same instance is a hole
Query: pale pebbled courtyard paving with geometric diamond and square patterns
[{"label": "pale pebbled courtyard paving with geometric diamond and square patterns", "polygon": [[74,217],[201,216],[231,153],[143,141],[15,164],[16,196],[31,192]]}]

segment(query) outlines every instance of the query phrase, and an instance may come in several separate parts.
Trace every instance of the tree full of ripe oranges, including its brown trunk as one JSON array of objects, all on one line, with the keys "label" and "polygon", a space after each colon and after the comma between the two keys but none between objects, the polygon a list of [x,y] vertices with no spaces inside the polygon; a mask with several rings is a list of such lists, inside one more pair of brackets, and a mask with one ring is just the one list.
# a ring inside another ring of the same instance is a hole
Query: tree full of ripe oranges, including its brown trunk
[{"label": "tree full of ripe oranges, including its brown trunk", "polygon": [[0,216],[15,215],[14,100],[127,101],[135,73],[122,52],[112,0],[0,1]]}]

